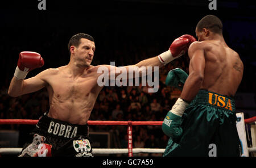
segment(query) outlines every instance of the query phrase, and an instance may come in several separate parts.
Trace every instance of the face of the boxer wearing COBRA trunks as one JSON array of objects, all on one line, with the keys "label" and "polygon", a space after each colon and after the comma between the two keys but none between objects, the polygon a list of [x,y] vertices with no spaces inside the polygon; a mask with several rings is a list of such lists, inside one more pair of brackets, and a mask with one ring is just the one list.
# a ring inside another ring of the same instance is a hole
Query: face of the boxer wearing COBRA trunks
[{"label": "face of the boxer wearing COBRA trunks", "polygon": [[92,63],[95,44],[88,39],[80,39],[80,45],[74,47],[75,60],[82,66],[89,66]]}]

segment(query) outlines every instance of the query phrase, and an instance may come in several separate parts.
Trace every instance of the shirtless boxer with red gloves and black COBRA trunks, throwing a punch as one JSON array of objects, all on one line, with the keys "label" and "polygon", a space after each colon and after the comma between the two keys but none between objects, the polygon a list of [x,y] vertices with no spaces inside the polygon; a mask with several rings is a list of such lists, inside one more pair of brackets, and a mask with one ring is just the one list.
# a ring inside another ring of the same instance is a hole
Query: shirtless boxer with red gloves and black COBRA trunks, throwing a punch
[{"label": "shirtless boxer with red gloves and black COBRA trunks, throwing a punch", "polygon": [[[126,70],[126,77],[130,77],[130,68],[137,69],[139,75],[143,75],[144,68],[155,70],[155,67],[156,69],[163,67],[164,64],[187,52],[193,42],[192,39],[190,35],[183,35],[173,41],[166,53],[123,67]],[[52,156],[92,156],[87,122],[102,89],[98,79],[105,77],[106,74],[111,79],[112,69],[114,69],[114,79],[118,78],[121,70],[113,65],[90,65],[95,51],[94,39],[90,35],[78,33],[71,37],[68,46],[70,61],[67,65],[46,69],[35,77],[25,80],[23,79],[30,70],[43,66],[43,59],[38,53],[20,53],[8,94],[16,97],[47,87],[51,104],[49,111],[40,117],[36,128],[24,144],[22,150],[24,153],[27,152],[26,149],[30,150],[30,144],[35,143],[34,135],[37,134],[45,138],[41,143],[43,146],[44,144],[52,146],[51,150],[47,148],[40,150],[45,156],[46,153]],[[122,75],[125,70],[122,70]],[[135,78],[135,75],[131,78]],[[74,101],[76,103],[73,103]],[[55,130],[57,125],[60,127]],[[82,142],[82,145],[79,145],[79,142]],[[33,149],[34,151],[36,150]],[[35,156],[33,152],[26,153],[26,156]]]}]

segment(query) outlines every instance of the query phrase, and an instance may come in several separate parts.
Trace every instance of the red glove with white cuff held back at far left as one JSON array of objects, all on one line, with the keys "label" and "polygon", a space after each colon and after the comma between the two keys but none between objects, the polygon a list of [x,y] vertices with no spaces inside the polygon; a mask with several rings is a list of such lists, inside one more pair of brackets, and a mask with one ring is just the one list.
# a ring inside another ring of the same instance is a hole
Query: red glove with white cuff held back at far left
[{"label": "red glove with white cuff held back at far left", "polygon": [[16,67],[14,77],[24,79],[28,72],[40,68],[44,65],[44,60],[39,53],[24,51],[19,53],[18,66]]}]

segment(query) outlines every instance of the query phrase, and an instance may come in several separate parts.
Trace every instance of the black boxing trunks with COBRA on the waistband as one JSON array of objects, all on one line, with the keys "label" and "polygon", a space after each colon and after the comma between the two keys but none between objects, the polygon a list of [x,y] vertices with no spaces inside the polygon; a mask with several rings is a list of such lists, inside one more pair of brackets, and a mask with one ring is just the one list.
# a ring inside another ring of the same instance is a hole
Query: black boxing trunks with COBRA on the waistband
[{"label": "black boxing trunks with COBRA on the waistband", "polygon": [[93,156],[88,124],[70,124],[47,114],[40,117],[19,157]]}]

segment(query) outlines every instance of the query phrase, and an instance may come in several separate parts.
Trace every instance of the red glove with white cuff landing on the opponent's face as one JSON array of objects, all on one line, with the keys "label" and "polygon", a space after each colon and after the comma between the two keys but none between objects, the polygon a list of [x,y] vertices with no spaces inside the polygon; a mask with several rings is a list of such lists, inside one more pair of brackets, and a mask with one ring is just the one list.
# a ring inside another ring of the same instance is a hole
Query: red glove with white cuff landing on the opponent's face
[{"label": "red glove with white cuff landing on the opponent's face", "polygon": [[179,58],[188,51],[189,45],[192,44],[194,41],[196,41],[196,39],[191,35],[183,35],[175,39],[172,42],[168,51],[158,56],[160,62],[162,62],[163,64],[168,64],[172,60]]}]

